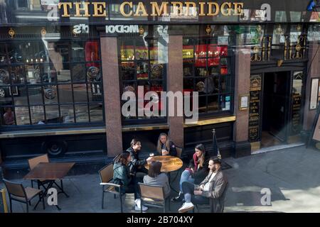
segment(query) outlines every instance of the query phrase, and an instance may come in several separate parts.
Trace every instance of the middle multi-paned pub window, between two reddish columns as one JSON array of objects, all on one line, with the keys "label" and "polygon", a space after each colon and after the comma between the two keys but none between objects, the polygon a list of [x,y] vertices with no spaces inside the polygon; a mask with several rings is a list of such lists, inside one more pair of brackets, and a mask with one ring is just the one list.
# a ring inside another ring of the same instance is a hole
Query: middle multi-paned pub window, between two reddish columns
[{"label": "middle multi-paned pub window, between two reddish columns", "polygon": [[[122,118],[124,124],[166,121],[166,116],[161,116],[161,110],[164,108],[161,92],[166,92],[166,47],[166,43],[156,38],[149,39],[145,36],[119,38],[120,90],[122,94],[134,92],[137,97],[134,113],[130,112]],[[138,94],[139,88],[142,96]],[[159,96],[159,101],[157,101],[159,111],[154,111],[158,114],[148,116],[142,111],[149,103],[148,100],[141,101],[146,92],[156,92]],[[126,102],[127,100],[122,100],[122,105]]]}]

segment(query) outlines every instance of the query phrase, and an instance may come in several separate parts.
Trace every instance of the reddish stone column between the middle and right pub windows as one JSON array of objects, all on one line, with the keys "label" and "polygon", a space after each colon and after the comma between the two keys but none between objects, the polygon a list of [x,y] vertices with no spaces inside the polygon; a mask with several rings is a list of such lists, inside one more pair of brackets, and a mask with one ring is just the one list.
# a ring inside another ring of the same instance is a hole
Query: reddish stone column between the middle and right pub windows
[{"label": "reddish stone column between the middle and right pub windows", "polygon": [[[183,91],[182,35],[169,35],[167,91]],[[175,106],[168,106],[175,108]],[[169,138],[183,146],[183,116],[168,116]]]}]

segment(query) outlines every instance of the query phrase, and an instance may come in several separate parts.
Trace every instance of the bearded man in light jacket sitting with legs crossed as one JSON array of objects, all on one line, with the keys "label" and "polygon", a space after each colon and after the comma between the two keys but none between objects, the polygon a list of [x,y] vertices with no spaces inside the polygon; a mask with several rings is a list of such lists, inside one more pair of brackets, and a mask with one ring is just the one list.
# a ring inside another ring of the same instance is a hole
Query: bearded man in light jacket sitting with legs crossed
[{"label": "bearded man in light jacket sitting with legs crossed", "polygon": [[[194,208],[193,204],[210,204],[214,199],[213,212],[221,213],[224,209],[224,193],[228,180],[221,170],[221,161],[218,157],[211,157],[209,161],[210,172],[201,184],[190,182],[182,183],[182,191],[185,203],[178,209],[179,213],[185,213]],[[210,199],[209,199],[210,198]]]}]

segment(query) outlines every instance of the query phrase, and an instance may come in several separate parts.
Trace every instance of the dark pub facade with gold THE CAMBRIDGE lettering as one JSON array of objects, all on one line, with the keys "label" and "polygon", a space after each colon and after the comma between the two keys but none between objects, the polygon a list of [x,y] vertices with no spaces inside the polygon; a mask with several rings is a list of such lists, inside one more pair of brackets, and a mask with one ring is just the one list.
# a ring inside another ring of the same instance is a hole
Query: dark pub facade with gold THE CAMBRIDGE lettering
[{"label": "dark pub facade with gold THE CAMBRIDGE lettering", "polygon": [[[223,157],[305,143],[320,100],[317,6],[1,0],[0,162],[105,162],[132,138],[151,151],[161,132],[188,156],[212,149],[213,128]],[[124,115],[122,95],[139,91],[198,92],[198,121],[141,114],[139,97]]]}]

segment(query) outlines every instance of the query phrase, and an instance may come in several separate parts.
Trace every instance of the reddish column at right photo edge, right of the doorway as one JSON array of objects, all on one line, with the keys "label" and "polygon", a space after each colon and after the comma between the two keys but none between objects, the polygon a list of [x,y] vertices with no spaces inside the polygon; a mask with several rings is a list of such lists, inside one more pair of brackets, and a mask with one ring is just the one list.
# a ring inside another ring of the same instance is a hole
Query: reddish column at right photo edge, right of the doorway
[{"label": "reddish column at right photo edge, right of the doorway", "polygon": [[[306,75],[306,98],[304,99],[304,130],[309,131],[316,115],[316,110],[309,110],[311,96],[311,79],[320,78],[320,48],[317,42],[309,45],[308,74]],[[313,60],[313,61],[312,61]],[[312,62],[311,62],[312,61]]]}]

